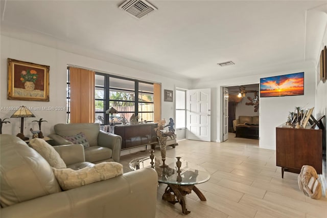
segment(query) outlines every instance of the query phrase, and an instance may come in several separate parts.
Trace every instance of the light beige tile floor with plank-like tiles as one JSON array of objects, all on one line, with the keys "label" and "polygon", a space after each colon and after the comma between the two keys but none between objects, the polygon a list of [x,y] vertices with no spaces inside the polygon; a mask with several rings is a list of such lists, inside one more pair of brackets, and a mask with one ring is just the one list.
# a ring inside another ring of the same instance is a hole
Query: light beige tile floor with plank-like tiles
[{"label": "light beige tile floor with plank-like tiles", "polygon": [[[211,173],[211,179],[197,187],[207,201],[195,193],[186,195],[186,208],[181,213],[179,204],[161,199],[166,185],[159,184],[156,218],[164,217],[327,217],[327,199],[313,200],[298,188],[297,174],[276,166],[275,151],[259,148],[259,141],[235,138],[223,143],[181,140],[176,148],[168,146],[167,157],[182,157],[199,164]],[[155,156],[160,150],[155,148]],[[121,157],[124,172],[130,171],[128,162],[148,156],[149,150]]]}]

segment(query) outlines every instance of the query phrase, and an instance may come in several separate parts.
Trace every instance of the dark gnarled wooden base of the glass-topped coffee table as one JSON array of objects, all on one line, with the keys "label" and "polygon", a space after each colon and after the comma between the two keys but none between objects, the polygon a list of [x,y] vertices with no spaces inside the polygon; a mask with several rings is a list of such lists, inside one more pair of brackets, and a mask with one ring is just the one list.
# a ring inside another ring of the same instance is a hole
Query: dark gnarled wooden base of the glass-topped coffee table
[{"label": "dark gnarled wooden base of the glass-topped coffee table", "polygon": [[195,185],[173,185],[168,184],[162,199],[171,204],[179,203],[182,206],[182,212],[189,214],[191,211],[186,209],[184,196],[194,191],[201,201],[206,201],[203,193]]}]

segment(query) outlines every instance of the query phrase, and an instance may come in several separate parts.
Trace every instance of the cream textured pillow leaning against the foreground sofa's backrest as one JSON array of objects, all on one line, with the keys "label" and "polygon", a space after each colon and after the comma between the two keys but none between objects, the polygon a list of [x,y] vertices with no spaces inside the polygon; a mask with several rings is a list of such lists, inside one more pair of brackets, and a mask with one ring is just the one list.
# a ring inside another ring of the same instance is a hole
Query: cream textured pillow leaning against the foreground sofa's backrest
[{"label": "cream textured pillow leaning against the foreground sofa's backrest", "polygon": [[53,148],[43,139],[31,139],[29,145],[34,150],[36,150],[46,161],[48,161],[50,166],[58,169],[66,168],[65,162],[63,162],[55,148]]}]

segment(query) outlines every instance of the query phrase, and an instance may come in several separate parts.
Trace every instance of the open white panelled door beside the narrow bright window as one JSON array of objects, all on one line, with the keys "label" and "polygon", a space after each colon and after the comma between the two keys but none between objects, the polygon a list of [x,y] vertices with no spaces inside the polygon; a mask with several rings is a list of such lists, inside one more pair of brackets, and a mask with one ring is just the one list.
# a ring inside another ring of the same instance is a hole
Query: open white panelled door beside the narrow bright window
[{"label": "open white panelled door beside the narrow bright window", "polygon": [[211,141],[210,98],[210,89],[188,91],[188,129],[186,131],[186,139],[208,142]]}]

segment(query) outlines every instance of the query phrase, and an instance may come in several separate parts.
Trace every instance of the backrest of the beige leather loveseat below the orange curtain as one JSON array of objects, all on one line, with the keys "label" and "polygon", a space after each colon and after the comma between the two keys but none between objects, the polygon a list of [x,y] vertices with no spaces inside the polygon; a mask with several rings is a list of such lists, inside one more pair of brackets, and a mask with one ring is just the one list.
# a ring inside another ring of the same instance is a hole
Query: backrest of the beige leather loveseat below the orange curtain
[{"label": "backrest of the beige leather loveseat below the orange curtain", "polygon": [[99,123],[58,123],[54,126],[54,130],[60,136],[73,136],[82,132],[90,146],[98,145]]}]

